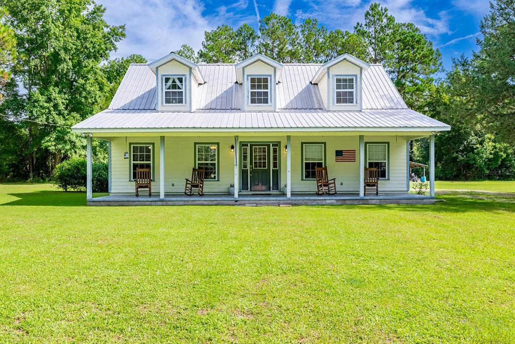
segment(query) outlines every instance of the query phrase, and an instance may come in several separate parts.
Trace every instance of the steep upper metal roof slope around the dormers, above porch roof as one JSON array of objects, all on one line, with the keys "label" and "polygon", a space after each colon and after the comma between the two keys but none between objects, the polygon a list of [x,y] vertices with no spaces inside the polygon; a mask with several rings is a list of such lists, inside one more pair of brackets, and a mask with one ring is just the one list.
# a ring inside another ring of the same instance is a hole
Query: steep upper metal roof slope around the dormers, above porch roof
[{"label": "steep upper metal roof slope around the dormers, above porch roof", "polygon": [[[321,64],[285,64],[277,85],[278,109],[322,109],[318,85],[311,84]],[[242,85],[234,64],[199,64],[205,84],[199,85],[195,109],[241,109]],[[156,75],[146,64],[131,64],[109,109],[156,109]],[[363,109],[406,109],[382,65],[363,72]]]}]

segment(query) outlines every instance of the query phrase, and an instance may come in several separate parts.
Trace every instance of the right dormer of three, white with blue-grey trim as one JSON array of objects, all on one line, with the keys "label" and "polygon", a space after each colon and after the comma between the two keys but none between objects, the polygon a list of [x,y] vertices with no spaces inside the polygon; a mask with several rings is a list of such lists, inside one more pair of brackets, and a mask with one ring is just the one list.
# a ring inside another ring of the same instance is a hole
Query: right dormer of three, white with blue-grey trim
[{"label": "right dormer of three, white with blue-grey trim", "polygon": [[365,61],[349,54],[340,55],[320,66],[311,80],[318,84],[327,110],[361,111],[363,109],[363,70]]}]

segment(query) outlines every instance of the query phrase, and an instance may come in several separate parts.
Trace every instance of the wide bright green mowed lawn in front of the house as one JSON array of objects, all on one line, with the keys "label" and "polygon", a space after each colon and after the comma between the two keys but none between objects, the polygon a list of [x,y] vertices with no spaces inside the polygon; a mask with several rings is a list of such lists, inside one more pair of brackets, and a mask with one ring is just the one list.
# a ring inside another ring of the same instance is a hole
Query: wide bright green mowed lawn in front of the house
[{"label": "wide bright green mowed lawn in front of the house", "polygon": [[0,342],[514,342],[515,203],[87,207],[0,185]]}]

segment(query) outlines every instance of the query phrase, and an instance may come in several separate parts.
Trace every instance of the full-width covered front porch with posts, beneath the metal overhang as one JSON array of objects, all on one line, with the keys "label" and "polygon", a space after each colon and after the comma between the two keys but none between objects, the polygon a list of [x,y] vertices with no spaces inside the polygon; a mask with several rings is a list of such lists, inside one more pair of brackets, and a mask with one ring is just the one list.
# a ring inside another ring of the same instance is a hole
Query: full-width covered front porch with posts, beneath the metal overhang
[{"label": "full-width covered front porch with posts, beneath the metal overhang", "polygon": [[[86,134],[88,204],[323,205],[434,201],[434,135],[427,135],[431,133],[285,134],[95,134],[107,140],[109,147],[110,195],[100,198],[92,198],[93,136]],[[427,196],[409,193],[409,142],[423,136],[429,136],[431,142]],[[374,158],[370,153],[372,147],[382,147],[384,151]],[[142,165],[152,170],[152,196],[142,192],[136,198],[132,177],[135,168]],[[372,165],[385,169],[378,195],[364,189],[364,169]],[[336,178],[337,194],[315,194],[316,182],[310,175],[314,166],[328,167],[329,177]],[[202,196],[183,194],[184,179],[190,177],[194,167],[209,171],[210,179],[205,181]]]}]

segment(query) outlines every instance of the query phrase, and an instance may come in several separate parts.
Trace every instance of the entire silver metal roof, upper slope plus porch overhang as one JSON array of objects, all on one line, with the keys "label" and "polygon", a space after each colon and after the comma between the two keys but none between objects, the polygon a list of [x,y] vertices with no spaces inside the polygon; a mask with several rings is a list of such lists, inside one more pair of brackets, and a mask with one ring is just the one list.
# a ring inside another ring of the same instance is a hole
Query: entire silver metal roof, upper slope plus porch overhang
[{"label": "entire silver metal roof, upper slope plus porch overhang", "polygon": [[363,72],[363,110],[325,111],[311,79],[322,64],[284,64],[277,85],[277,111],[241,111],[242,85],[234,64],[199,64],[195,111],[156,111],[156,75],[131,64],[109,108],[75,126],[84,129],[259,130],[449,130],[450,126],[408,109],[382,65]]}]

